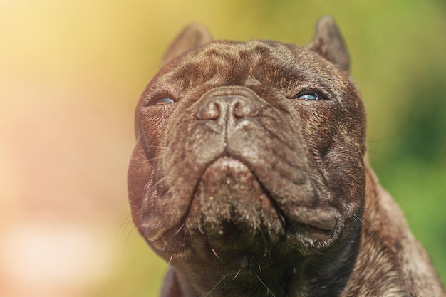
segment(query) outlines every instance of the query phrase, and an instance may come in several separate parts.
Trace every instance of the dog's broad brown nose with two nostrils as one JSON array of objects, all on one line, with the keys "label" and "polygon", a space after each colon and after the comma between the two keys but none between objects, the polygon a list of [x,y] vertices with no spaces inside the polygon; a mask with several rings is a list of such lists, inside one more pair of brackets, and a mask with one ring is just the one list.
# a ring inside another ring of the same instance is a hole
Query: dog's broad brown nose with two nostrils
[{"label": "dog's broad brown nose with two nostrils", "polygon": [[216,96],[197,110],[199,120],[225,119],[229,122],[242,118],[255,118],[260,108],[255,100],[242,95]]}]

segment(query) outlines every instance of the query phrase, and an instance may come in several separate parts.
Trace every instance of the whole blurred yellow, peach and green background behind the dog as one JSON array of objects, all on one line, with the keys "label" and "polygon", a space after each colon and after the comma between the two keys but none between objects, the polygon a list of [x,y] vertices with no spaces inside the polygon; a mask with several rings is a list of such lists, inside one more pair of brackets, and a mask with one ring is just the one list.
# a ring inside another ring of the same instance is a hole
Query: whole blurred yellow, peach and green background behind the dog
[{"label": "whole blurred yellow, peach and green background behind the dog", "polygon": [[446,281],[446,2],[0,0],[0,296],[157,296],[131,224],[133,110],[191,21],[305,44],[338,21],[370,159]]}]

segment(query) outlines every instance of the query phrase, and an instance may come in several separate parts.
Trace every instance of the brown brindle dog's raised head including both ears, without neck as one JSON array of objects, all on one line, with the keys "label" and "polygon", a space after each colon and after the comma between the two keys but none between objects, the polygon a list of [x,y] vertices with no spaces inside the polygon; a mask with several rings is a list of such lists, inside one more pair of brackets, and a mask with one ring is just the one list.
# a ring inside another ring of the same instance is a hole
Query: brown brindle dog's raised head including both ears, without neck
[{"label": "brown brindle dog's raised head including both ears, without neck", "polygon": [[271,257],[296,272],[354,252],[365,115],[330,17],[306,48],[187,27],[142,93],[135,129],[133,221],[184,275],[274,269]]}]

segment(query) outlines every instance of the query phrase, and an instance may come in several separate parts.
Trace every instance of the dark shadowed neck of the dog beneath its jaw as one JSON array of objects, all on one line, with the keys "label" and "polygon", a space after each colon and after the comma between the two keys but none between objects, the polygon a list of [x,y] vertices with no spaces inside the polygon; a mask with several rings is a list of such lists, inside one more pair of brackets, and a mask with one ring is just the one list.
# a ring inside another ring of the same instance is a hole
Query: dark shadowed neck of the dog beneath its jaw
[{"label": "dark shadowed neck of the dog beneath its jaw", "polygon": [[170,268],[162,297],[340,296],[351,278],[361,244],[361,229],[336,249],[317,256],[277,255],[258,269],[228,273],[216,265],[209,273]]}]

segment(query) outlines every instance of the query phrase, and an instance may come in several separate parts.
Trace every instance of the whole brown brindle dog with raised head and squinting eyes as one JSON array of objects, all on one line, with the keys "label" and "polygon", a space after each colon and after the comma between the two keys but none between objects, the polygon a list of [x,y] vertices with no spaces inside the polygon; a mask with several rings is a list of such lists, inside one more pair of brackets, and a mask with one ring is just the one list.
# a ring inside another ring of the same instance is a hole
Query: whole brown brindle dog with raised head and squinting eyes
[{"label": "whole brown brindle dog with raised head and squinting eyes", "polygon": [[135,115],[133,222],[170,270],[162,297],[446,296],[380,187],[331,16],[306,47],[172,42]]}]

